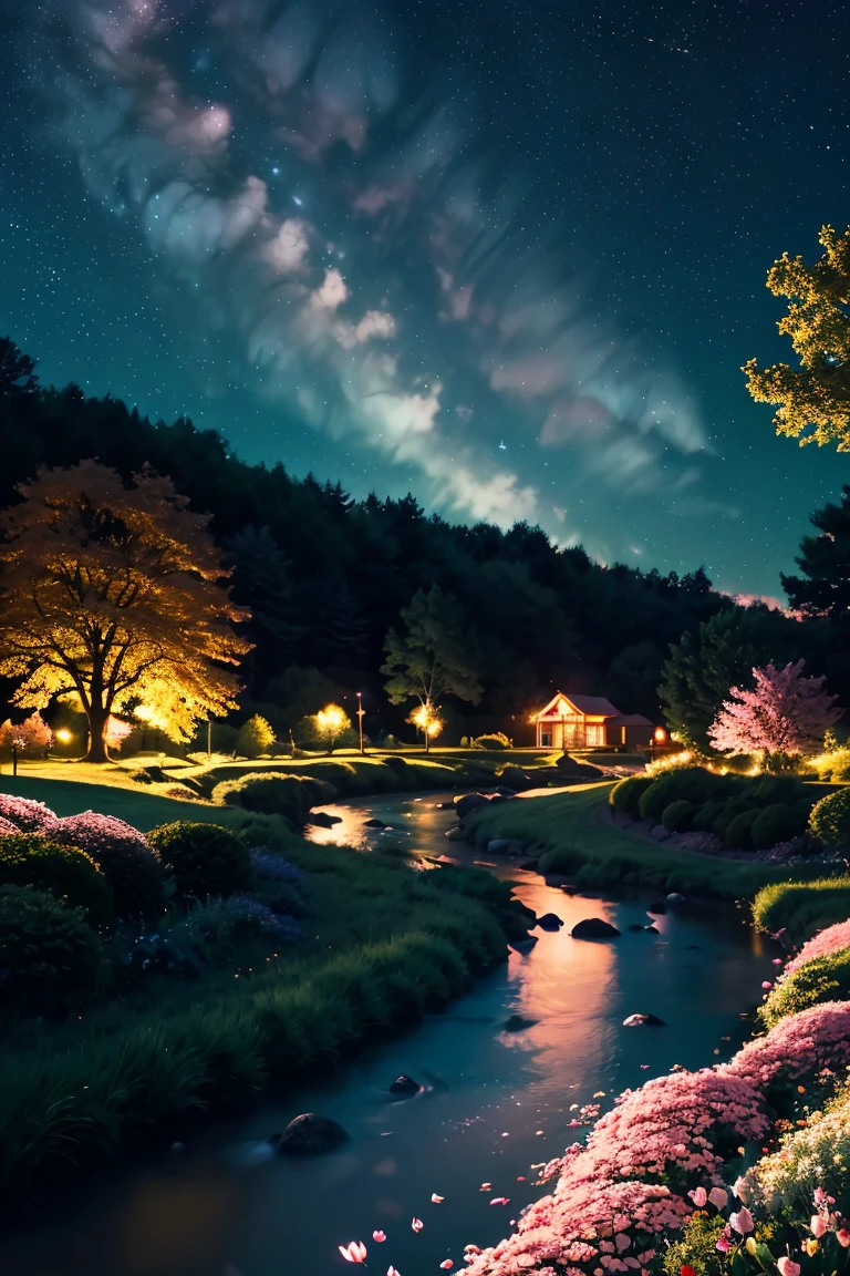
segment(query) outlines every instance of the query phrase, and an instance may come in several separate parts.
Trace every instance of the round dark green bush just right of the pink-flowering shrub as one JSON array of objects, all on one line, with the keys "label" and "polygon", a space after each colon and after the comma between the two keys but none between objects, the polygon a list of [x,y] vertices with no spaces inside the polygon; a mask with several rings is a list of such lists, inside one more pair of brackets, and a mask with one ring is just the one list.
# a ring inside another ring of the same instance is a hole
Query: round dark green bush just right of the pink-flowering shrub
[{"label": "round dark green bush just right of the pink-flowering shrub", "polygon": [[251,884],[247,846],[220,824],[192,824],[187,819],[162,824],[148,833],[181,898],[233,894]]}]

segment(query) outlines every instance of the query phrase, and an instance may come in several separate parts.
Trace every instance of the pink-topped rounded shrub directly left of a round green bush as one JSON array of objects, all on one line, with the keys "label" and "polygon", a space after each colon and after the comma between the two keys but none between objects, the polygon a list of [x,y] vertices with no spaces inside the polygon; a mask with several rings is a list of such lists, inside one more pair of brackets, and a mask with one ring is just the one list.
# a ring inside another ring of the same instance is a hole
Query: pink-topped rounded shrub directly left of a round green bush
[{"label": "pink-topped rounded shrub directly left of a round green bush", "polygon": [[46,826],[50,838],[79,846],[106,878],[120,917],[155,917],[163,909],[163,873],[144,833],[115,815],[85,810]]}]

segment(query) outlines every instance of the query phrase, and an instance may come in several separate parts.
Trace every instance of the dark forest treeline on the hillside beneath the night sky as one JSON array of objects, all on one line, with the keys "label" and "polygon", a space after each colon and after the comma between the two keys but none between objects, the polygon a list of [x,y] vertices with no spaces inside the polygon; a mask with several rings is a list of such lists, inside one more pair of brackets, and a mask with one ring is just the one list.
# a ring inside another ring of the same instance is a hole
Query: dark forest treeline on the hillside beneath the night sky
[{"label": "dark forest treeline on the hillside beneath the night sky", "polygon": [[461,604],[484,688],[477,708],[455,706],[447,743],[491,729],[529,743],[530,711],[558,686],[658,720],[670,644],[723,610],[742,610],[711,588],[702,568],[682,577],[605,568],[580,547],[556,549],[525,523],[507,532],[456,526],[426,514],[410,495],[356,501],[339,484],[293,478],[280,463],[246,464],[190,420],[153,424],[73,384],[41,389],[19,364],[6,367],[5,380],[0,367],[0,505],[11,504],[15,485],[40,466],[93,457],[125,478],[150,464],[212,514],[234,568],[233,596],[254,615],[246,708],[285,706],[303,681],[293,681],[292,666],[319,669],[348,693],[349,708],[352,694],[364,693],[372,734],[398,731],[404,711],[387,706],[378,672],[385,635],[415,591],[436,583]]}]

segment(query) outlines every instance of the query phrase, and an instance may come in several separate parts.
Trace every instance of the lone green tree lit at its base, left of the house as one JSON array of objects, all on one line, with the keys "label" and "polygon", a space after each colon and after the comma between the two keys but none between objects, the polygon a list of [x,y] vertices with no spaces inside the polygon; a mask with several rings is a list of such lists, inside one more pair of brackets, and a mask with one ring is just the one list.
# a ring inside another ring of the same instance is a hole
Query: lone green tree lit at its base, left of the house
[{"label": "lone green tree lit at its base, left of the house", "polygon": [[405,633],[390,629],[384,643],[386,694],[391,704],[418,699],[424,712],[423,732],[428,745],[428,725],[438,718],[443,695],[478,704],[480,657],[475,638],[465,628],[457,600],[432,584],[428,592],[417,590],[408,607],[401,609]]}]

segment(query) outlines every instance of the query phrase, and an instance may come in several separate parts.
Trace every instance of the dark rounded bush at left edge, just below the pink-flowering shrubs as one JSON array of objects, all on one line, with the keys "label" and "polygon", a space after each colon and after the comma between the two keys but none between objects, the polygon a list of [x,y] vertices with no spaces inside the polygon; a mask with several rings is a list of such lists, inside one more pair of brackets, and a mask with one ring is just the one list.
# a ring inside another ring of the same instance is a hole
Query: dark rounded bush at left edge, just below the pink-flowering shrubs
[{"label": "dark rounded bush at left edge, just below the pink-flowering shrubs", "polygon": [[90,925],[115,921],[112,892],[90,856],[38,833],[0,837],[0,886],[32,887],[83,909]]}]

